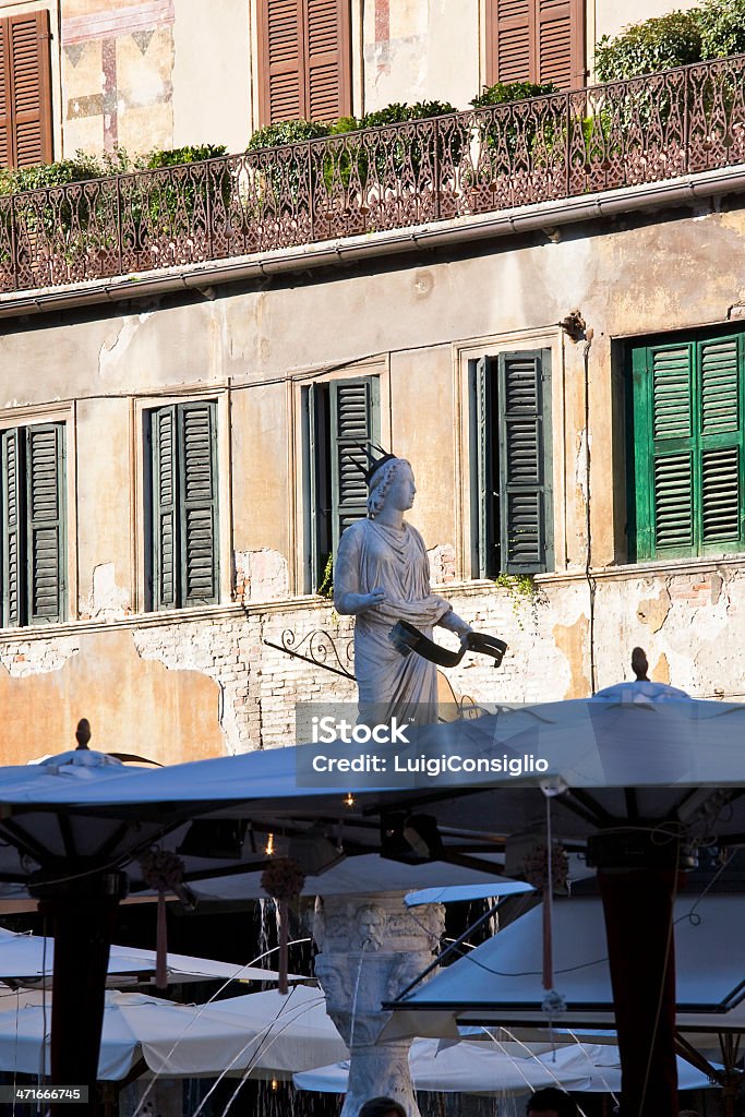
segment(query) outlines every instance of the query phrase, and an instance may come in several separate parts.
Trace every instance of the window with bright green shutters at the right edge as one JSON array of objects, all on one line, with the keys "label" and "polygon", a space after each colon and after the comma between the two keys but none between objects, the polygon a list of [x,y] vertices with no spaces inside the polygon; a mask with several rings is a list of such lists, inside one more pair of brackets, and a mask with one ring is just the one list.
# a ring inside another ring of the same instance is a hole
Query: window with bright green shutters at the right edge
[{"label": "window with bright green shutters at the right edge", "polygon": [[631,370],[632,553],[745,550],[745,333],[634,347]]}]

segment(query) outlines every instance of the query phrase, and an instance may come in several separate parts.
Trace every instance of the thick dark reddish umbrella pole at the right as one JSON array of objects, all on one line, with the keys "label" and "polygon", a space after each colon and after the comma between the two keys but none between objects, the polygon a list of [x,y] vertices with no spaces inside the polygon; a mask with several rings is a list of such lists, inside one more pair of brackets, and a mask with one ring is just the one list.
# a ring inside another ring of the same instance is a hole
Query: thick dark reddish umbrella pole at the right
[{"label": "thick dark reddish umbrella pole at the right", "polygon": [[677,1117],[675,944],[677,870],[600,870],[615,1028],[621,1114]]}]

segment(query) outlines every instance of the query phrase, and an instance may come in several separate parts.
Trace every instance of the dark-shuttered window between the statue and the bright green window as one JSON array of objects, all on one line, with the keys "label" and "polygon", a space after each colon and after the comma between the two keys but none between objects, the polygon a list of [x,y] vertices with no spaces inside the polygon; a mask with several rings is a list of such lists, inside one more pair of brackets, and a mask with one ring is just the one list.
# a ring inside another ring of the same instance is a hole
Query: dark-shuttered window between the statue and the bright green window
[{"label": "dark-shuttered window between the statue and the bright green window", "polygon": [[478,576],[553,565],[551,351],[472,363]]}]

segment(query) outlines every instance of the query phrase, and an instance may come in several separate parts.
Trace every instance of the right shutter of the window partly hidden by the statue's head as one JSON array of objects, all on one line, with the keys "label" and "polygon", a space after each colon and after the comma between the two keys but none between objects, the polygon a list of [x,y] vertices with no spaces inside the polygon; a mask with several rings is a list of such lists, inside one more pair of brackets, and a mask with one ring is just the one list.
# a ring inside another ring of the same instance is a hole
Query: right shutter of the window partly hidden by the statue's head
[{"label": "right shutter of the window partly hidden by the statue's head", "polygon": [[367,515],[364,447],[380,438],[378,378],[332,381],[329,395],[332,547],[336,554],[344,528]]}]

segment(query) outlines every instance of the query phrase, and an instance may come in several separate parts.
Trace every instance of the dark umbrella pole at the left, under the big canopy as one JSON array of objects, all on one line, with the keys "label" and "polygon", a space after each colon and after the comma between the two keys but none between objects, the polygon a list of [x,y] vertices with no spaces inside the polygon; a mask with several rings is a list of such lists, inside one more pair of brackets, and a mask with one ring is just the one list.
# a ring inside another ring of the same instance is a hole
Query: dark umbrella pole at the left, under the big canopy
[{"label": "dark umbrella pole at the left, under the big canopy", "polygon": [[108,951],[124,878],[118,872],[73,877],[69,868],[55,875],[59,884],[35,888],[39,910],[51,920],[55,936],[51,1086],[87,1087],[88,1101],[52,1101],[50,1113],[93,1117],[99,1111],[96,1080]]}]

